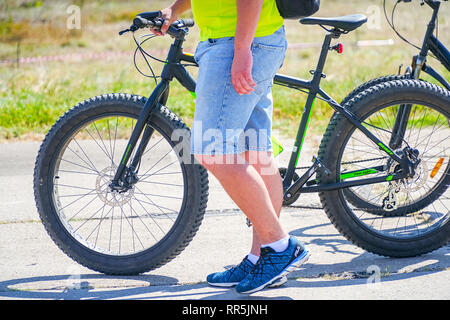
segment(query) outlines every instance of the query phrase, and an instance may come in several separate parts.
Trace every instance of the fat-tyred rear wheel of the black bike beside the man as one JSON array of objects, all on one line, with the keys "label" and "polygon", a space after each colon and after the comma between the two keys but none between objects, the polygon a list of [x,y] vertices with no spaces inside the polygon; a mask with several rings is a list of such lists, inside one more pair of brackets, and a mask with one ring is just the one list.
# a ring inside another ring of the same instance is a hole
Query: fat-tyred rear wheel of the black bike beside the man
[{"label": "fat-tyred rear wheel of the black bike beside the man", "polygon": [[[320,193],[327,215],[347,239],[367,251],[392,257],[423,254],[450,240],[449,92],[422,81],[391,81],[365,90],[349,101],[346,108],[388,145],[401,105],[412,106],[402,147],[419,151],[416,175],[351,188],[374,207],[387,208],[386,201],[395,200],[389,202],[396,206],[393,214],[380,215],[373,208],[355,206],[348,201],[346,189]],[[404,151],[395,152],[401,155]],[[338,182],[343,177],[346,181],[361,179],[351,177],[349,173],[355,171],[366,178],[399,170],[378,145],[339,114],[330,121],[319,156],[332,171],[330,176],[319,175],[320,183]]]}]

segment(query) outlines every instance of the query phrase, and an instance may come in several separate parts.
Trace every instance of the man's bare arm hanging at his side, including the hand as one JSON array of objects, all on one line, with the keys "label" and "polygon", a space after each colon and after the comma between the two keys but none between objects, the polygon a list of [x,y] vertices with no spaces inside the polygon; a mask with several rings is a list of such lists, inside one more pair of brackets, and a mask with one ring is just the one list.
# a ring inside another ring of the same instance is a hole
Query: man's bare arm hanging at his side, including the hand
[{"label": "man's bare arm hanging at his side, including the hand", "polygon": [[236,0],[237,24],[231,80],[239,94],[249,94],[256,84],[252,78],[253,56],[251,45],[261,14],[263,0]]}]

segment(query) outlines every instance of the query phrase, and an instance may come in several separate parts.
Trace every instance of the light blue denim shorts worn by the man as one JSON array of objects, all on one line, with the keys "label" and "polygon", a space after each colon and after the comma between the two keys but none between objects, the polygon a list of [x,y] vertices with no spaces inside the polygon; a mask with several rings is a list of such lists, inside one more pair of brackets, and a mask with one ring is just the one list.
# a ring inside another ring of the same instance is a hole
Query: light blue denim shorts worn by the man
[{"label": "light blue denim shorts worn by the man", "polygon": [[234,37],[199,43],[191,153],[203,155],[272,151],[273,77],[287,48],[284,27],[252,43],[255,90],[239,95],[231,82]]}]

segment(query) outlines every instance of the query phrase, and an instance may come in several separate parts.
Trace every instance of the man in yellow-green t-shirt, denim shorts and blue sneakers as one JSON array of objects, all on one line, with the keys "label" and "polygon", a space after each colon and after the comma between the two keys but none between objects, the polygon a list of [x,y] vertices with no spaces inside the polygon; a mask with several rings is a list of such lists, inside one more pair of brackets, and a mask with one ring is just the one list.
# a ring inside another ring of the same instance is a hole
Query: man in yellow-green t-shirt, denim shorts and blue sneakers
[{"label": "man in yellow-green t-shirt, denim shorts and blue sneakers", "polygon": [[253,225],[248,256],[207,281],[252,293],[282,284],[309,257],[279,222],[283,189],[270,137],[272,79],[287,47],[283,18],[275,0],[177,0],[154,32],[165,34],[191,8],[201,31],[191,152]]}]

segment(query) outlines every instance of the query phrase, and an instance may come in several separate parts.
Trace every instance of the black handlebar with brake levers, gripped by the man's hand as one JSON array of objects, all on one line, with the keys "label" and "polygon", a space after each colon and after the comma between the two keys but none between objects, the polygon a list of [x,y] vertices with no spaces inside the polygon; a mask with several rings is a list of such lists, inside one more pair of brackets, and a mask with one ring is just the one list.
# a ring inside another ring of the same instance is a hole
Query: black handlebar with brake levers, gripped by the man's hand
[{"label": "black handlebar with brake levers, gripped by the man's hand", "polygon": [[[136,16],[133,20],[133,24],[129,29],[122,30],[119,32],[119,35],[123,35],[127,32],[135,32],[139,29],[143,28],[152,28],[155,30],[160,30],[164,23],[164,19],[161,18],[161,11],[155,12],[143,12]],[[178,37],[180,31],[183,28],[190,28],[195,25],[194,20],[192,19],[178,19],[174,23],[169,26],[167,33],[172,37]]]}]

